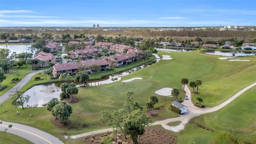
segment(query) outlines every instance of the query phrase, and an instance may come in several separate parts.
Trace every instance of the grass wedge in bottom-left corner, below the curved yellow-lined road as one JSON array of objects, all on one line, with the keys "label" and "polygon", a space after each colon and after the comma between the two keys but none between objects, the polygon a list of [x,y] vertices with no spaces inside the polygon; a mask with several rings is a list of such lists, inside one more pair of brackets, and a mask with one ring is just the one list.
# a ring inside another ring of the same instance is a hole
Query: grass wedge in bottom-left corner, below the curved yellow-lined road
[{"label": "grass wedge in bottom-left corner, below the curved yellow-lined road", "polygon": [[0,143],[5,144],[17,144],[17,143],[24,143],[24,144],[30,144],[32,142],[23,139],[21,137],[18,137],[17,135],[13,135],[7,132],[0,132]]}]

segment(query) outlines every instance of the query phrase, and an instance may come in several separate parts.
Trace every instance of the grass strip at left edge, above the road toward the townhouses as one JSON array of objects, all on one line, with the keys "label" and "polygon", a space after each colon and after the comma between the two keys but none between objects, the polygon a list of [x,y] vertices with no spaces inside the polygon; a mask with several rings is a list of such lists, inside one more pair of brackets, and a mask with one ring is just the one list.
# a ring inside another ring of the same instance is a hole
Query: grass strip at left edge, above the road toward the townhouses
[{"label": "grass strip at left edge, above the road toward the townhouses", "polygon": [[[6,79],[1,83],[2,86],[7,85],[6,89],[3,91],[0,91],[0,95],[4,94],[5,92],[9,91],[14,85],[16,85],[19,82],[12,83],[13,78],[20,78],[22,79],[25,77],[28,73],[31,72],[30,66],[21,66],[20,68],[14,67],[10,69],[10,71],[13,71],[13,73],[5,74]],[[18,75],[19,73],[19,75]]]}]

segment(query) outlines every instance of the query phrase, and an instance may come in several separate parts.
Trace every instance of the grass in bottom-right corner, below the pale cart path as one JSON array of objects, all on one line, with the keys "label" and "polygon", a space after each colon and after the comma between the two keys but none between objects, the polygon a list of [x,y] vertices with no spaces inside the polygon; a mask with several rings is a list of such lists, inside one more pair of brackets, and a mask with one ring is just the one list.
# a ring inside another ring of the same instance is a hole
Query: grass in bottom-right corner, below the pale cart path
[{"label": "grass in bottom-right corner, below the pale cart path", "polygon": [[[214,135],[209,130],[233,133],[239,143],[256,143],[256,87],[246,91],[226,107],[195,117],[178,135],[178,143],[209,143]],[[202,129],[197,124],[205,126]]]}]

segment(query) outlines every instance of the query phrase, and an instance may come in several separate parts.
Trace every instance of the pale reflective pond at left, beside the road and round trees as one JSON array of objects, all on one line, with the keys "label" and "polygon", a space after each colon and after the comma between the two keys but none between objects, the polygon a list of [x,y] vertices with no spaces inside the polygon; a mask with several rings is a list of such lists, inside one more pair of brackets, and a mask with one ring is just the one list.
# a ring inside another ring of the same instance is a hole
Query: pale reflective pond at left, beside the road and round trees
[{"label": "pale reflective pond at left, beside the road and round trees", "polygon": [[36,85],[27,90],[24,94],[29,95],[29,102],[24,107],[43,107],[52,98],[60,98],[60,87],[53,84]]}]

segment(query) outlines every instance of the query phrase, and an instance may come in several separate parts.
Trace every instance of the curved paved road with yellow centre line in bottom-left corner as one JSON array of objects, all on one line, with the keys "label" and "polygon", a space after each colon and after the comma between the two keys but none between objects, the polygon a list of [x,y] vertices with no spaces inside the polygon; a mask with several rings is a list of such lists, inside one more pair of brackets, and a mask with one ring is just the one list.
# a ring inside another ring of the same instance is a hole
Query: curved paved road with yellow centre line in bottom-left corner
[{"label": "curved paved road with yellow centre line in bottom-left corner", "polygon": [[41,130],[35,129],[34,127],[30,127],[27,125],[3,122],[0,124],[0,131],[4,131],[8,127],[8,125],[12,124],[12,127],[8,129],[6,132],[18,135],[21,138],[27,139],[33,143],[40,144],[59,144],[63,143],[58,138],[53,135],[43,132]]}]

